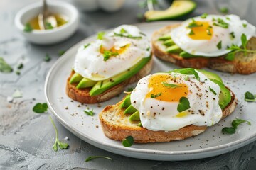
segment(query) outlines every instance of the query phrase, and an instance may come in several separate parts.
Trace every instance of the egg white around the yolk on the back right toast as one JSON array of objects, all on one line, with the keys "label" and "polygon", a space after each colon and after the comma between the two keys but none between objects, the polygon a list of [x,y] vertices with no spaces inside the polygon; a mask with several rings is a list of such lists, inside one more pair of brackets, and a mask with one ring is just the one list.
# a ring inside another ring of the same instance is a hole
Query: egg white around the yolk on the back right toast
[{"label": "egg white around the yolk on the back right toast", "polygon": [[[214,20],[222,19],[225,23],[228,23],[228,28],[223,28],[220,26],[214,26]],[[190,28],[188,24],[191,23],[192,19],[188,19],[181,23],[181,26],[171,30],[171,38],[174,40],[178,47],[182,50],[188,52],[192,55],[206,56],[206,57],[217,57],[220,55],[225,55],[230,50],[227,50],[231,45],[241,46],[242,42],[240,40],[241,35],[245,34],[247,40],[255,36],[255,26],[248,23],[245,20],[241,20],[238,16],[228,15],[228,16],[218,16],[218,15],[208,15],[206,18],[201,18],[201,16],[193,18],[195,21],[207,21],[210,26],[213,27],[213,36],[210,40],[193,40],[188,36]],[[230,36],[230,33],[235,35],[235,38]],[[221,41],[221,49],[218,49],[217,45]]]}]

